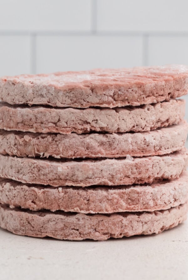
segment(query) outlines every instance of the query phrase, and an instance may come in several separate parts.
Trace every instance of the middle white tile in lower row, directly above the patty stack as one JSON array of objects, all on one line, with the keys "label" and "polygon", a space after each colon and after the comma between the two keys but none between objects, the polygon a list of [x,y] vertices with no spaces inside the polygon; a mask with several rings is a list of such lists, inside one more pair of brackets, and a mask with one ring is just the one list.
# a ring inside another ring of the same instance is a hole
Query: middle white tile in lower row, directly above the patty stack
[{"label": "middle white tile in lower row, directly above the patty stack", "polygon": [[141,36],[38,36],[36,40],[37,73],[142,65]]}]

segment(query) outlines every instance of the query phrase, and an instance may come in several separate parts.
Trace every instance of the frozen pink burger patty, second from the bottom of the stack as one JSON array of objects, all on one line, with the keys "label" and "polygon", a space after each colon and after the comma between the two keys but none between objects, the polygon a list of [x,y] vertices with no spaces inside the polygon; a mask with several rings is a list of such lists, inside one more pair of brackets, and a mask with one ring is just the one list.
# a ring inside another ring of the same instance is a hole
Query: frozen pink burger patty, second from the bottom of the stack
[{"label": "frozen pink burger patty, second from the bottom of the stack", "polygon": [[33,211],[80,213],[156,211],[188,200],[188,173],[173,181],[121,187],[44,187],[0,179],[0,203]]}]

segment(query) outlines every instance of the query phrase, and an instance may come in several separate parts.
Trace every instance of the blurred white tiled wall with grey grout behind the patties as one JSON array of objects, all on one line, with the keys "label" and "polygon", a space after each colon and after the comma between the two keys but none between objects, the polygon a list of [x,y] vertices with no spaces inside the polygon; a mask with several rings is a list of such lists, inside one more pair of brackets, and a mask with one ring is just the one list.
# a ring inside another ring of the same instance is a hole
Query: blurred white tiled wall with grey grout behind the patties
[{"label": "blurred white tiled wall with grey grout behind the patties", "polygon": [[0,0],[0,76],[162,64],[188,65],[188,1]]}]

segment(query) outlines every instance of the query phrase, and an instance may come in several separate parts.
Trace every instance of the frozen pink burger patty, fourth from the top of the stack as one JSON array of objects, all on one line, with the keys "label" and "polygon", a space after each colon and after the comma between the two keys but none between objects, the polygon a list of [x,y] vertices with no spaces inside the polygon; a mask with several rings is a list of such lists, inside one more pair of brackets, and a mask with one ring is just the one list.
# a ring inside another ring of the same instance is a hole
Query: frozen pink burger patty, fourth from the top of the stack
[{"label": "frozen pink burger patty, fourth from the top of the stack", "polygon": [[187,161],[185,148],[163,156],[101,160],[44,160],[0,155],[0,177],[54,187],[131,185],[175,179],[185,170]]}]

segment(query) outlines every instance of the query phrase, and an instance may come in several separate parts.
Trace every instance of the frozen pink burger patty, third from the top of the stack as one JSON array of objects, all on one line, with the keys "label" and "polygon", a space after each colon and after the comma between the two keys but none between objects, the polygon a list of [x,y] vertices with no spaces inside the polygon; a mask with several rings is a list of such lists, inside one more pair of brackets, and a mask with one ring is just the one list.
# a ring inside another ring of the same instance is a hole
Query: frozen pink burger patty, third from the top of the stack
[{"label": "frozen pink burger patty, third from the top of the stack", "polygon": [[142,133],[41,134],[0,130],[0,153],[18,157],[119,158],[163,155],[181,150],[188,125]]}]

